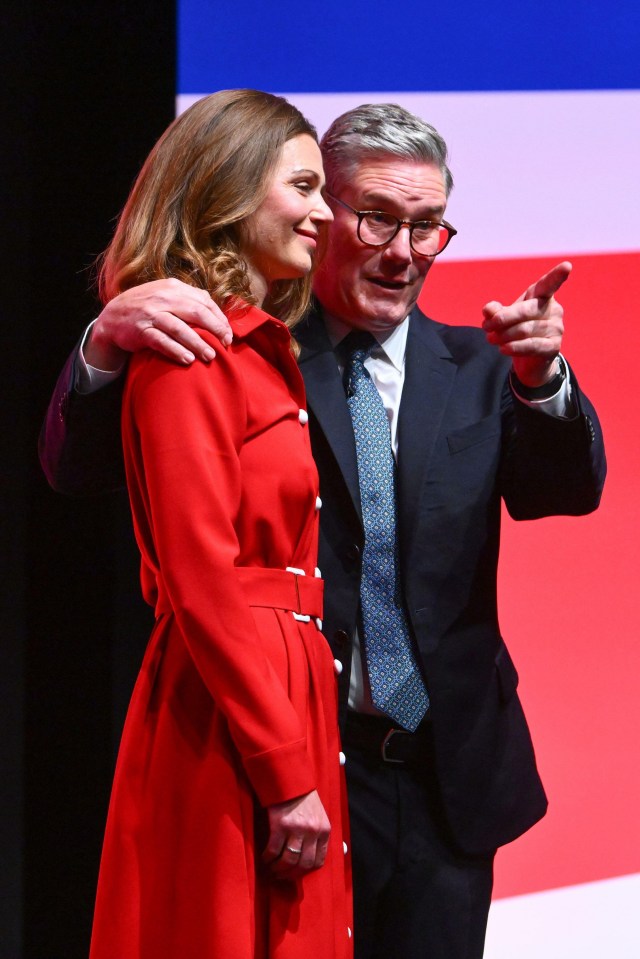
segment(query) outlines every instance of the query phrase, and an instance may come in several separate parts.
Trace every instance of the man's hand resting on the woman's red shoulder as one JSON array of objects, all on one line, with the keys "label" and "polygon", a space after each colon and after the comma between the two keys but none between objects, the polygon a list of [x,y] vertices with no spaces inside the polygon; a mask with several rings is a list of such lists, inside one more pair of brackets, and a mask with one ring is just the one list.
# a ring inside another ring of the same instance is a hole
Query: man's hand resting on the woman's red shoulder
[{"label": "man's hand resting on the woman's red shoulder", "polygon": [[84,357],[100,370],[116,370],[129,353],[143,349],[186,366],[196,357],[208,363],[215,350],[192,326],[210,330],[225,346],[231,342],[229,322],[206,290],[181,280],[152,280],[107,303],[85,343]]}]

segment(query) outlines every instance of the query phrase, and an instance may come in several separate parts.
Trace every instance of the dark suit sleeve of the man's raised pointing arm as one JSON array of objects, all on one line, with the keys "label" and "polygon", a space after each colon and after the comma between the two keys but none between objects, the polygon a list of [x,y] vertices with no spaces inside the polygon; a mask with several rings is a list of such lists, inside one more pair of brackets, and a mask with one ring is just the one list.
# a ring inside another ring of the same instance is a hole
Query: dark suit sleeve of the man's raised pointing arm
[{"label": "dark suit sleeve of the man's raised pointing arm", "polygon": [[531,409],[505,387],[512,412],[503,496],[514,519],[580,516],[600,503],[607,470],[602,429],[573,372],[571,383],[578,408],[571,419]]}]

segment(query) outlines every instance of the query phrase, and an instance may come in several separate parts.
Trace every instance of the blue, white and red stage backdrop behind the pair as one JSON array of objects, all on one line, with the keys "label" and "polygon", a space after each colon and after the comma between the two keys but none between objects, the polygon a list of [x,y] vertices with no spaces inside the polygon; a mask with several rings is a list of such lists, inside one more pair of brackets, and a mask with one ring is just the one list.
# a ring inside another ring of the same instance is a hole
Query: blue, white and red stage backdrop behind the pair
[{"label": "blue, white and red stage backdrop behind the pair", "polygon": [[640,6],[507,0],[181,0],[178,110],[226,87],[283,93],[319,133],[395,101],[447,140],[459,235],[421,306],[479,324],[562,259],[564,352],[599,410],[601,509],[505,516],[503,633],[521,675],[547,817],[501,851],[488,959],[640,953]]}]

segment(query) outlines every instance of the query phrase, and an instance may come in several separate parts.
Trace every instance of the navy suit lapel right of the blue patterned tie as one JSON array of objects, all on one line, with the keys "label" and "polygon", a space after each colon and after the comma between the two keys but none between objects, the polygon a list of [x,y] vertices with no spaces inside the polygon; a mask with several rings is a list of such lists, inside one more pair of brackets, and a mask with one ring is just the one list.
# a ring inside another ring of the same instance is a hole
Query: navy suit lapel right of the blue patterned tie
[{"label": "navy suit lapel right of the blue patterned tie", "polygon": [[417,526],[420,494],[455,372],[451,354],[435,324],[414,309],[409,320],[398,418],[400,542],[405,559]]}]

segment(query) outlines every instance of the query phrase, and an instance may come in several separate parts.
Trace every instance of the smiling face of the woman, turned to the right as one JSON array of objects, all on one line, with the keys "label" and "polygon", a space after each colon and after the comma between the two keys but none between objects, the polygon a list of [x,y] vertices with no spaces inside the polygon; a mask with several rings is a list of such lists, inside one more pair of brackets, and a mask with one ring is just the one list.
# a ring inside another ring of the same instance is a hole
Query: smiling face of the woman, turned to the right
[{"label": "smiling face of the woman, turned to the right", "polygon": [[242,253],[251,291],[262,302],[275,280],[304,276],[319,234],[333,219],[324,202],[320,149],[304,133],[287,140],[264,201],[244,223]]}]

